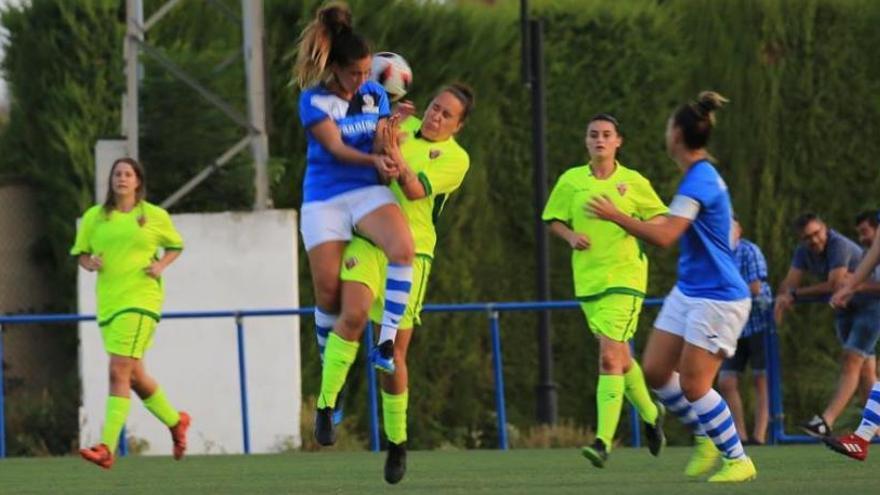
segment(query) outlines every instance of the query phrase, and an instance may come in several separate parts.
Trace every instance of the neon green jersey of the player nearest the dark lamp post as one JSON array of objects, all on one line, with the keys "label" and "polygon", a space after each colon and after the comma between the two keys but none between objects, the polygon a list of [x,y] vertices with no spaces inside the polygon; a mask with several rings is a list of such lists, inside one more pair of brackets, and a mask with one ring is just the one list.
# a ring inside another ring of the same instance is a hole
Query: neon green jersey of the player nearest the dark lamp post
[{"label": "neon green jersey of the player nearest the dark lamp post", "polygon": [[593,176],[589,164],[567,170],[553,187],[542,218],[558,220],[590,239],[590,247],[573,250],[575,295],[591,299],[607,293],[645,295],[648,258],[638,239],[613,222],[587,216],[584,205],[605,195],[623,213],[649,220],[668,211],[651,183],[635,170],[615,163],[606,179]]}]

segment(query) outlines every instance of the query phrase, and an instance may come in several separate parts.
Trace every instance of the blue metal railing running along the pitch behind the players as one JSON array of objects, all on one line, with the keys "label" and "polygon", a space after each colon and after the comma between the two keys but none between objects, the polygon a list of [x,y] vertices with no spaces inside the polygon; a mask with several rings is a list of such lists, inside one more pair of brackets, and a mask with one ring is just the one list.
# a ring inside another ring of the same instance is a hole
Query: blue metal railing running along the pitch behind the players
[{"label": "blue metal railing running along the pitch behind the players", "polygon": [[[660,306],[661,298],[645,299],[644,306]],[[469,303],[469,304],[429,304],[423,309],[427,313],[485,313],[489,320],[489,332],[492,344],[493,376],[495,379],[495,408],[498,427],[498,447],[506,450],[509,447],[507,438],[507,412],[504,395],[504,373],[501,354],[501,312],[541,311],[559,309],[578,309],[578,301],[549,301],[549,302],[504,302],[504,303]],[[314,308],[292,309],[257,309],[240,311],[196,311],[196,312],[170,312],[164,313],[164,319],[182,318],[233,318],[236,325],[239,393],[241,399],[241,427],[242,444],[246,454],[251,451],[250,445],[250,420],[248,414],[247,392],[247,366],[245,359],[244,344],[244,318],[245,317],[271,317],[271,316],[303,316],[314,313]],[[79,314],[51,314],[51,315],[0,315],[0,363],[3,361],[2,329],[9,324],[37,324],[37,323],[69,323],[80,321],[94,321],[94,315]],[[778,339],[775,332],[765,334],[767,363],[768,363],[768,394],[770,397],[770,443],[807,443],[817,440],[806,435],[789,435],[784,431],[782,412],[782,386],[779,360]],[[373,328],[368,325],[364,332],[364,340],[367,352],[373,345]],[[368,400],[370,415],[370,448],[379,450],[379,418],[378,400],[376,387],[376,374],[369,362],[367,366]],[[632,431],[633,446],[640,445],[640,420],[634,408],[630,410],[630,424]],[[123,432],[124,435],[124,432]],[[124,444],[124,441],[121,442]],[[123,445],[124,447],[124,445]],[[124,450],[120,451],[124,455]],[[6,434],[5,434],[5,394],[3,390],[3,370],[0,367],[0,458],[6,457]]]}]

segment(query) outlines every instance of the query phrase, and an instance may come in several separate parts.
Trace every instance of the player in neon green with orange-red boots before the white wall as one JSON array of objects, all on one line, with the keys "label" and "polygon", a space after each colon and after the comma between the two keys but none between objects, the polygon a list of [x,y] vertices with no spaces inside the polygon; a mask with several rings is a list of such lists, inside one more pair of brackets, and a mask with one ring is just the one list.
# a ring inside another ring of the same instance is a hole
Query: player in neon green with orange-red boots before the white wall
[{"label": "player in neon green with orange-red boots before the white wall", "polygon": [[183,249],[168,212],[148,203],[145,195],[140,164],[132,158],[116,160],[104,204],[86,210],[70,251],[80,266],[98,272],[98,325],[110,355],[110,396],[101,442],[80,454],[104,469],[113,465],[132,389],[171,430],[175,459],[183,457],[190,424],[189,415],[171,406],[142,360],[162,309],[162,272]]}]

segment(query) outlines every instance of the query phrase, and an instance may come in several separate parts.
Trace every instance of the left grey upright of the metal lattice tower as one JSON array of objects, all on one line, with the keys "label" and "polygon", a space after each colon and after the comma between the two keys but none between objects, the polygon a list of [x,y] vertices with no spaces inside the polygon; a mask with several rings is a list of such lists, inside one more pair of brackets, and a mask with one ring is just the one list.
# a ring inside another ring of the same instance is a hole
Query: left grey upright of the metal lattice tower
[{"label": "left grey upright of the metal lattice tower", "polygon": [[138,160],[138,42],[143,42],[144,6],[141,0],[125,1],[125,102],[122,109],[122,133],[126,137],[128,156]]}]

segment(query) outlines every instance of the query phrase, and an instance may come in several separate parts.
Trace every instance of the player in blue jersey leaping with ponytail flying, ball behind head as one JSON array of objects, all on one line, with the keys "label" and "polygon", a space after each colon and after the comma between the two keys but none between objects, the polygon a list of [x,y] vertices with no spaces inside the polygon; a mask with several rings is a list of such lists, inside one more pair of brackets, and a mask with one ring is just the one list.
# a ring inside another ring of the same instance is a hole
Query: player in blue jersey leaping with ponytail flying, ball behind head
[{"label": "player in blue jersey leaping with ponytail flying, ball behind head", "polygon": [[[397,173],[378,139],[390,113],[388,96],[368,80],[370,65],[370,48],[352,29],[348,6],[331,2],[321,7],[302,32],[295,76],[304,88],[299,114],[308,139],[300,227],[325,370],[340,358],[334,348],[345,344],[330,330],[341,324],[339,271],[352,231],[370,238],[390,261],[380,345],[370,357],[388,372],[393,371],[394,336],[412,282],[412,234],[391,190],[381,183]],[[319,408],[332,406],[319,399]]]}]

